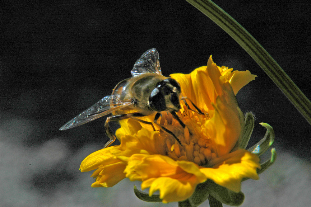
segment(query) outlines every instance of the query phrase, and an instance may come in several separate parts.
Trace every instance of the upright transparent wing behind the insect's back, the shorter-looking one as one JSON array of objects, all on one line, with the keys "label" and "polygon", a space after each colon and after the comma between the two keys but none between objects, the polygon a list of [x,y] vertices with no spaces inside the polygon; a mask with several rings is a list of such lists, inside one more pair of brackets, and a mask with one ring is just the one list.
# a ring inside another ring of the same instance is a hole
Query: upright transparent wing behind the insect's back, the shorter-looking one
[{"label": "upright transparent wing behind the insect's back, the shorter-looking one", "polygon": [[143,73],[157,73],[161,75],[159,53],[156,51],[156,48],[144,52],[131,70],[133,77]]}]

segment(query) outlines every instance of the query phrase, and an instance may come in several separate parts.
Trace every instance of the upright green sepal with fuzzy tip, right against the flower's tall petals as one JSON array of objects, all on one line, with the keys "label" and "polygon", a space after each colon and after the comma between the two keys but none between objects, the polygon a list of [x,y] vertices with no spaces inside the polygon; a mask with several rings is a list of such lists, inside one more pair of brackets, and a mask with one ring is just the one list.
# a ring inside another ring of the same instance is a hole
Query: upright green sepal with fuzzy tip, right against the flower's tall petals
[{"label": "upright green sepal with fuzzy tip, right against the flower's tall petals", "polygon": [[254,116],[252,113],[246,112],[244,117],[245,117],[245,124],[244,124],[243,135],[239,139],[239,146],[242,149],[245,149],[247,147],[248,141],[251,138],[251,135],[253,133],[254,124],[255,124]]}]

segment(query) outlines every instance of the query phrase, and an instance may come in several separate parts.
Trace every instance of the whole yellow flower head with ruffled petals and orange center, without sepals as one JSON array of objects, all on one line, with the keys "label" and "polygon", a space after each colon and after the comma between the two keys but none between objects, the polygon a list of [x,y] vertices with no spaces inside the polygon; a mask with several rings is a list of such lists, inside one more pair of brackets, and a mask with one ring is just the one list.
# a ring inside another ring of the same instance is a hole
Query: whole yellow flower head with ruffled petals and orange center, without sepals
[{"label": "whole yellow flower head with ruffled petals and orange center, without sepals", "polygon": [[[86,157],[81,172],[95,170],[92,187],[111,187],[128,177],[142,181],[149,195],[160,191],[164,203],[189,198],[198,184],[214,181],[239,192],[243,178],[258,179],[259,158],[239,148],[244,115],[235,94],[255,75],[217,66],[210,57],[207,66],[190,74],[171,74],[187,96],[204,113],[189,110],[182,102],[177,113],[186,127],[163,112],[158,123],[170,134],[133,119],[120,122],[116,136],[121,144],[101,149]],[[187,100],[186,100],[187,101]],[[191,101],[187,101],[194,109]],[[153,121],[153,116],[146,117]]]}]

